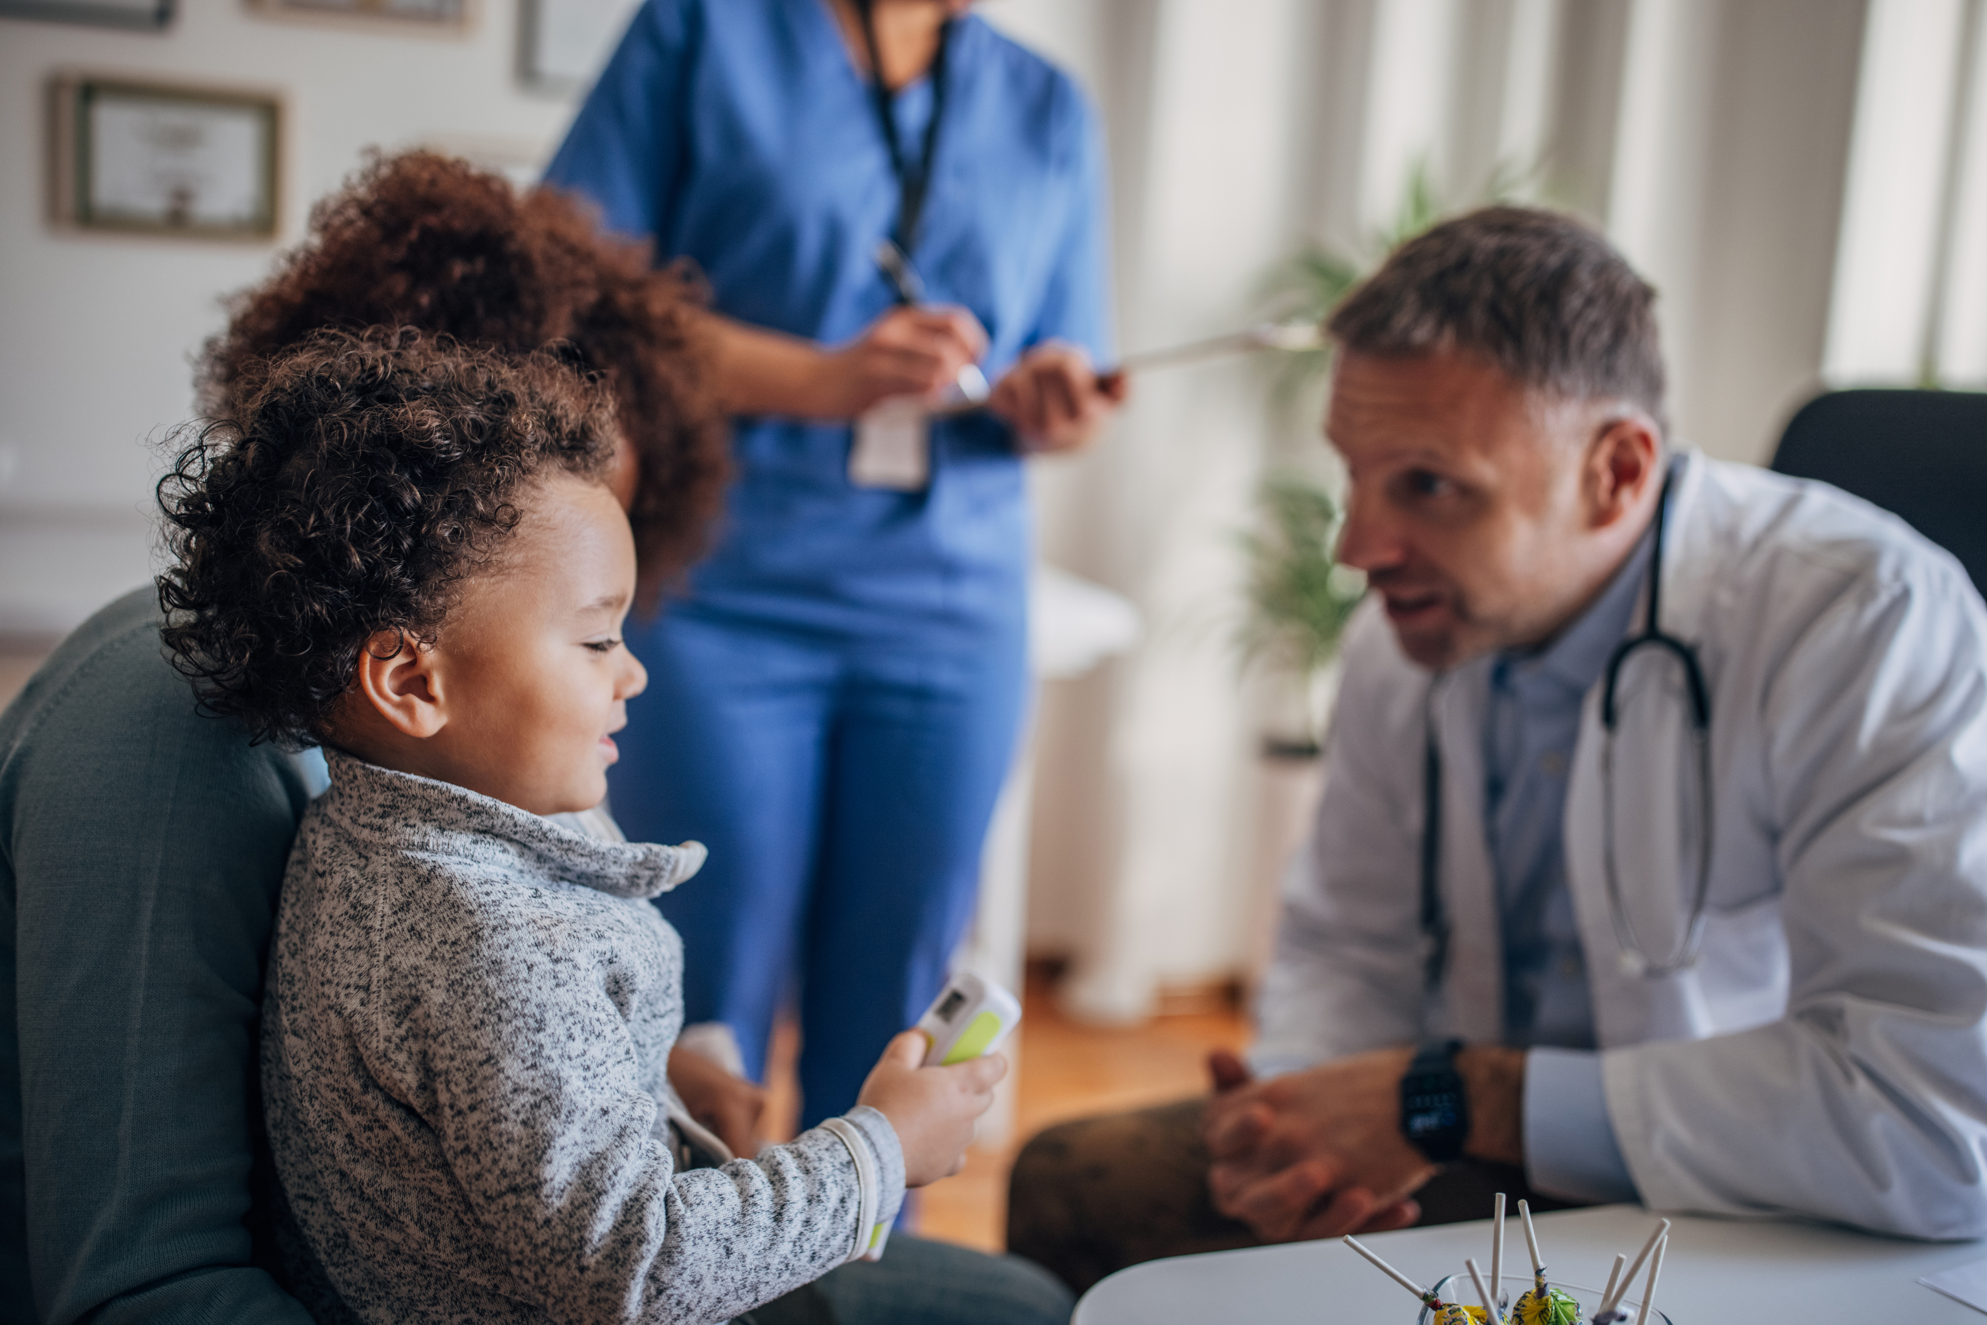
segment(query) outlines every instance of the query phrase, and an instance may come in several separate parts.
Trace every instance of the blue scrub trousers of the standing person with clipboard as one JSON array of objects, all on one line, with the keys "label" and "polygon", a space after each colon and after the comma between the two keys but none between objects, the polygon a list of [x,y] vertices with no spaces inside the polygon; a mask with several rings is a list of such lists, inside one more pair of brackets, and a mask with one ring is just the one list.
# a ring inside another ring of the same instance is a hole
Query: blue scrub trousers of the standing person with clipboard
[{"label": "blue scrub trousers of the standing person with clipboard", "polygon": [[697,838],[658,906],[684,936],[689,1021],[725,1021],[765,1073],[781,997],[801,1017],[801,1126],[846,1112],[946,975],[1025,703],[1025,626],[848,638],[670,610],[632,630],[648,693],[616,737],[632,840]]}]

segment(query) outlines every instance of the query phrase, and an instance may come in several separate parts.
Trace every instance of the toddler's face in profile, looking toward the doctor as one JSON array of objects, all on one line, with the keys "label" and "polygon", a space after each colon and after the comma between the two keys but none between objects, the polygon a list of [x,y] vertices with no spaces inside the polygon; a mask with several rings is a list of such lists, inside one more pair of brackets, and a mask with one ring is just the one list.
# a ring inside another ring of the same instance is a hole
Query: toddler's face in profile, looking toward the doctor
[{"label": "toddler's face in profile, looking toward the doctor", "polygon": [[648,685],[620,640],[634,536],[600,483],[556,475],[519,505],[499,562],[463,582],[421,660],[439,723],[405,771],[535,814],[584,810],[606,799],[610,733]]}]

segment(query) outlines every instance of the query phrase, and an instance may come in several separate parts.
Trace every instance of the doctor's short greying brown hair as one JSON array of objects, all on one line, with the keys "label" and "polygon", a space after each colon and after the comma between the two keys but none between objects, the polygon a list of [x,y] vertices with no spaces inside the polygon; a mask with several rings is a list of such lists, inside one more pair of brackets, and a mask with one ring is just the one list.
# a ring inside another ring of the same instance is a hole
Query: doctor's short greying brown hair
[{"label": "doctor's short greying brown hair", "polygon": [[1484,207],[1407,240],[1325,330],[1381,358],[1474,354],[1562,399],[1623,399],[1667,431],[1655,288],[1596,230]]}]

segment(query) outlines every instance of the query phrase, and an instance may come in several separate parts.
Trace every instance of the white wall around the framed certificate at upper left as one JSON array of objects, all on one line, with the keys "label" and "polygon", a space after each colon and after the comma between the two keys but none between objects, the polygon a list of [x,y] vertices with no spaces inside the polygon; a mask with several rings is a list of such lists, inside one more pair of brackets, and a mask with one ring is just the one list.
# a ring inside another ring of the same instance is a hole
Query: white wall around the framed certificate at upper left
[{"label": "white wall around the framed certificate at upper left", "polygon": [[[550,153],[570,105],[521,89],[515,66],[515,0],[481,0],[463,36],[266,18],[242,0],[181,0],[163,34],[0,20],[0,634],[60,634],[147,578],[159,445],[189,413],[189,360],[221,326],[219,300],[268,270],[368,145]],[[54,228],[42,179],[58,70],[280,91],[276,242]]]}]

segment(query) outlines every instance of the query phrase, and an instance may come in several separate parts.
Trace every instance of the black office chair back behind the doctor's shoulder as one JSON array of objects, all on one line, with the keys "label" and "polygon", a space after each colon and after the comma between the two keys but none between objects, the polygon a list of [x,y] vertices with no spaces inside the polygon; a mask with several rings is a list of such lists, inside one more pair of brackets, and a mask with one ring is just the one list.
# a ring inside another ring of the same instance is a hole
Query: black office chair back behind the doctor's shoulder
[{"label": "black office chair back behind the doctor's shoulder", "polygon": [[1772,467],[1884,507],[1959,558],[1987,594],[1987,391],[1828,391]]}]

